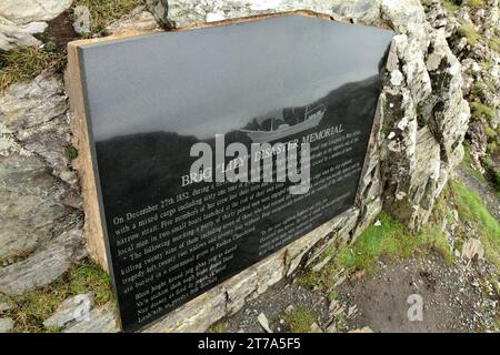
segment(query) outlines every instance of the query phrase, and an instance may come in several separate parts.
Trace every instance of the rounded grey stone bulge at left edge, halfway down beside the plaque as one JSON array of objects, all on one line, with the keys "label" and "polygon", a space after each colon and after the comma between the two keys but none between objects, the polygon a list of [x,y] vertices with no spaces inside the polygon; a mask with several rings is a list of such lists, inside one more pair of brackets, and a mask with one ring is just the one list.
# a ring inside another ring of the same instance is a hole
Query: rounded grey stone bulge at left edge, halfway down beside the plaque
[{"label": "rounded grey stone bulge at left edge, halfway down beside the plaque", "polygon": [[53,225],[73,213],[79,199],[34,155],[0,155],[0,257],[49,240]]}]

